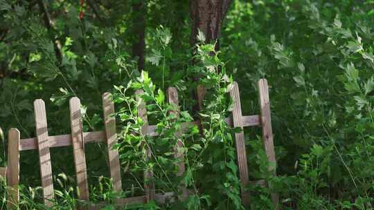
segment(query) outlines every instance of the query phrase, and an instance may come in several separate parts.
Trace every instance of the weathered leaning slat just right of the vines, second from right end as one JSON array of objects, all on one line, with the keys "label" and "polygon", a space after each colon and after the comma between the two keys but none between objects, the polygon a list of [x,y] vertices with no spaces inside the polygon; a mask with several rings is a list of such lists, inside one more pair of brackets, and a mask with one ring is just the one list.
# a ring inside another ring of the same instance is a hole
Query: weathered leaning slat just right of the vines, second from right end
[{"label": "weathered leaning slat just right of the vines, second from right end", "polygon": [[[240,93],[238,83],[233,82],[233,88],[230,90],[231,98],[233,99],[233,126],[243,128],[242,121],[242,107],[240,105]],[[242,184],[242,202],[243,204],[249,203],[249,194],[244,191],[244,188],[249,183],[248,166],[247,166],[247,152],[245,149],[244,132],[235,133],[235,146],[238,155],[238,165],[240,182]]]}]

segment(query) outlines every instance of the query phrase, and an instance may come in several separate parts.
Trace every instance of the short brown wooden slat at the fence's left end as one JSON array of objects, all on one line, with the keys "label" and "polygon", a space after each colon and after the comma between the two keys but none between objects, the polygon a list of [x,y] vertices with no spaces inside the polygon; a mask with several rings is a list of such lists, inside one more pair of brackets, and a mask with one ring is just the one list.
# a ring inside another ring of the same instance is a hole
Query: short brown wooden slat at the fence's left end
[{"label": "short brown wooden slat at the fence's left end", "polygon": [[19,204],[19,131],[10,128],[8,133],[8,209],[18,209]]}]

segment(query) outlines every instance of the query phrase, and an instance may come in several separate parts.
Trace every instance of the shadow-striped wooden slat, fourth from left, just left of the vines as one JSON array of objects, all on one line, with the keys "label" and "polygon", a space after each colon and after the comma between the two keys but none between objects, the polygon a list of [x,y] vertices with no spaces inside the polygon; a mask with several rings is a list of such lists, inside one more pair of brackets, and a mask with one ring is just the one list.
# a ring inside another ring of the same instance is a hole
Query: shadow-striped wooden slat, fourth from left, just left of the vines
[{"label": "shadow-striped wooden slat, fourth from left, just left of the vines", "polygon": [[122,191],[121,182],[121,167],[118,156],[118,149],[114,149],[114,145],[117,144],[117,133],[116,133],[116,118],[114,115],[114,104],[112,100],[112,94],[103,94],[103,110],[104,110],[104,123],[105,123],[105,134],[107,135],[107,146],[109,156],[109,171],[113,181],[113,189],[116,192]]}]

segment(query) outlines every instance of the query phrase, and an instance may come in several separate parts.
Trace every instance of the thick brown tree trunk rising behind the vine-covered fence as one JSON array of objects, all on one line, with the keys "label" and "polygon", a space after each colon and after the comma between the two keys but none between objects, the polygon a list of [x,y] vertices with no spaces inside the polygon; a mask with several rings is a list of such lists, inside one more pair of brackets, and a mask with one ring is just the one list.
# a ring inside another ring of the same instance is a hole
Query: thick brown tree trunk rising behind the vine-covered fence
[{"label": "thick brown tree trunk rising behind the vine-covered fence", "polygon": [[219,48],[218,37],[220,36],[222,21],[231,4],[231,0],[192,0],[190,5],[190,16],[192,19],[192,30],[190,44],[196,43],[198,30],[202,31],[206,43],[217,41],[216,48]]}]

